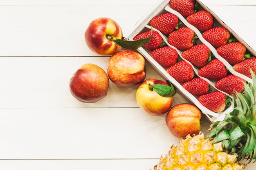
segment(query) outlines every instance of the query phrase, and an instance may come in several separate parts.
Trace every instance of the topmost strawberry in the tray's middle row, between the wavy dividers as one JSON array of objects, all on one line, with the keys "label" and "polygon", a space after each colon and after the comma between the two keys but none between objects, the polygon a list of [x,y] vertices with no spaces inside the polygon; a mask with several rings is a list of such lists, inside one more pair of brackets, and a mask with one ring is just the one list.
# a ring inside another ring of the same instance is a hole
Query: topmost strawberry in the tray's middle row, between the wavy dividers
[{"label": "topmost strawberry in the tray's middle row, between the wavy dividers", "polygon": [[179,24],[179,18],[172,13],[163,13],[153,17],[149,24],[163,34],[170,34]]}]

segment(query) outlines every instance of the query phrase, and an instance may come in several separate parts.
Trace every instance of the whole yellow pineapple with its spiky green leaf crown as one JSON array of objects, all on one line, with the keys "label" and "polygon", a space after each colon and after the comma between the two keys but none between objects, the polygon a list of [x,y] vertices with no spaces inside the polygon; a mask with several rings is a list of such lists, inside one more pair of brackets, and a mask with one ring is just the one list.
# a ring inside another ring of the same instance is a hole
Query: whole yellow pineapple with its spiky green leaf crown
[{"label": "whole yellow pineapple with its spiky green leaf crown", "polygon": [[188,135],[171,146],[154,170],[243,170],[239,161],[256,161],[256,77],[250,72],[252,84],[234,94],[234,110],[225,120],[213,122],[206,137]]}]

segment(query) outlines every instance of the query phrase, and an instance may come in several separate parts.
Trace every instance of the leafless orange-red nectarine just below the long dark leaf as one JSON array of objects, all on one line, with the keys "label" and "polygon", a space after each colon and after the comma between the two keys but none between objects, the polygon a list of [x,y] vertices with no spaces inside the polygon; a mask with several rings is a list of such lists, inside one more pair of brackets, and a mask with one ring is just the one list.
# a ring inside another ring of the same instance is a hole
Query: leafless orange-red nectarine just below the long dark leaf
[{"label": "leafless orange-red nectarine just below the long dark leaf", "polygon": [[121,50],[108,60],[108,77],[120,86],[138,85],[146,78],[144,57],[132,50]]}]

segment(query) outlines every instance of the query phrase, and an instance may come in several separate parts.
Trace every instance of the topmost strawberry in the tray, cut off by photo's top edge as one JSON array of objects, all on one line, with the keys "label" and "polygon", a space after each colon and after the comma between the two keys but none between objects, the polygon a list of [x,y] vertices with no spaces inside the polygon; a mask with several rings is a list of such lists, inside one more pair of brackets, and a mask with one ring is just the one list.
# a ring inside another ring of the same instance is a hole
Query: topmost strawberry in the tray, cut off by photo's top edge
[{"label": "topmost strawberry in the tray, cut off by photo's top edge", "polygon": [[170,7],[178,11],[183,17],[194,13],[195,0],[170,0]]}]

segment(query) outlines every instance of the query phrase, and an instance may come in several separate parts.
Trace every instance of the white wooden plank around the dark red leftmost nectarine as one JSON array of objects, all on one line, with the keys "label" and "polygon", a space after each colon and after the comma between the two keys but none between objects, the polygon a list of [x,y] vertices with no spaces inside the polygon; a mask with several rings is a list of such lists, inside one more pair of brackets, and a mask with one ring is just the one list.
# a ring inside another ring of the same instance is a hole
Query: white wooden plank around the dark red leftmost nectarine
[{"label": "white wooden plank around the dark red leftmost nectarine", "polygon": [[[84,63],[108,69],[109,57],[0,57],[0,108],[138,107],[136,86],[121,87],[110,81],[108,95],[83,103],[70,93],[69,81]],[[148,64],[146,78],[162,79]],[[164,79],[162,79],[164,80]],[[185,102],[179,94],[174,104]]]}]

